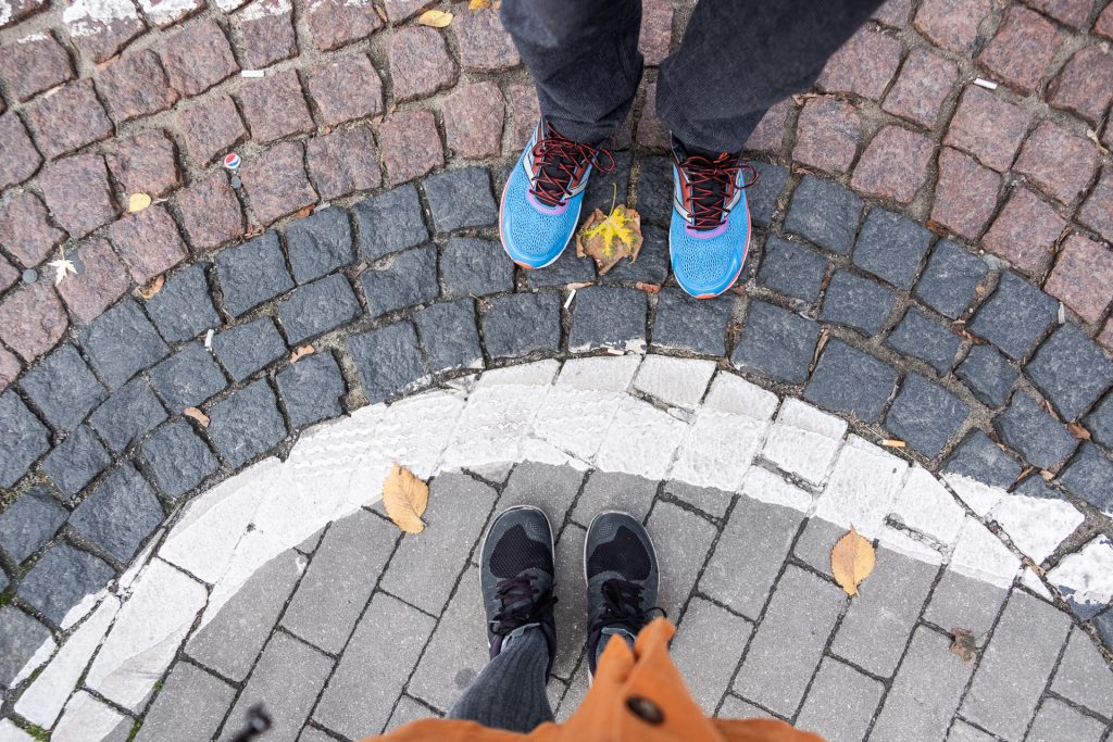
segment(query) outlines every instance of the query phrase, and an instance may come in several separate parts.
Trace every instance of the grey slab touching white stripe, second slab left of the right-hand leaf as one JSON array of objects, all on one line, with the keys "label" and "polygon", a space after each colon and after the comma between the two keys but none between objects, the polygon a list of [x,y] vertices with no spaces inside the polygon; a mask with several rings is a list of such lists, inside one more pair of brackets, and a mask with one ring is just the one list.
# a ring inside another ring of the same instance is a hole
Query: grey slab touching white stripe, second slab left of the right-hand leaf
[{"label": "grey slab touching white stripe, second slab left of the right-hand leaf", "polygon": [[804,515],[788,507],[738,501],[699,581],[699,590],[757,620]]}]

